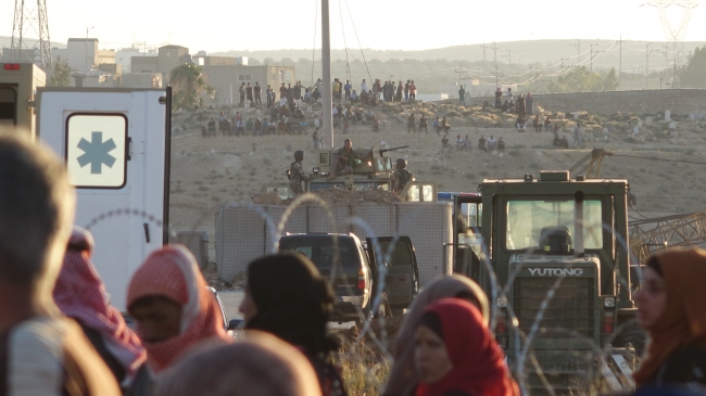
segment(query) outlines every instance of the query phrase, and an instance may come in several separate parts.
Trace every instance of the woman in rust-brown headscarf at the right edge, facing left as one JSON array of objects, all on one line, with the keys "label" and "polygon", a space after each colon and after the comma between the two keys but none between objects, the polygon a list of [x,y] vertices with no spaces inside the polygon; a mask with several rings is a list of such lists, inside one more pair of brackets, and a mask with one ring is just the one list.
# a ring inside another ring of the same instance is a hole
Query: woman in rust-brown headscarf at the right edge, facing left
[{"label": "woman in rust-brown headscarf at the right edge, facing left", "polygon": [[652,342],[634,373],[635,384],[706,385],[706,251],[658,254],[643,274],[635,295],[638,322]]}]

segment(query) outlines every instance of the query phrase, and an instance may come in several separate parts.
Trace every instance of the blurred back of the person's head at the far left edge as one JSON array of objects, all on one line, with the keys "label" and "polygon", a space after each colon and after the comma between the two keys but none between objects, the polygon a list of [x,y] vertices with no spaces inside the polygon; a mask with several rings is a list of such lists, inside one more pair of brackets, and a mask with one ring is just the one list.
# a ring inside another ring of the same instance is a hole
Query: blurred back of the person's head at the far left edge
[{"label": "blurred back of the person's head at the far left edge", "polygon": [[73,204],[66,171],[48,149],[0,133],[0,278],[29,285],[59,273],[56,244],[66,247]]}]

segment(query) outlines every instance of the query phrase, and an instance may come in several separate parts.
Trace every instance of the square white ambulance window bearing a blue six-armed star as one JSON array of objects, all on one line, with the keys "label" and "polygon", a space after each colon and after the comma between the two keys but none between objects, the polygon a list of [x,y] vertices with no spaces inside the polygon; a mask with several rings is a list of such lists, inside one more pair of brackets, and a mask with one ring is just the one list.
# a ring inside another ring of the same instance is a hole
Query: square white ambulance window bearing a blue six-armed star
[{"label": "square white ambulance window bearing a blue six-armed star", "polygon": [[83,189],[122,189],[127,179],[127,117],[72,114],[66,120],[68,181]]}]

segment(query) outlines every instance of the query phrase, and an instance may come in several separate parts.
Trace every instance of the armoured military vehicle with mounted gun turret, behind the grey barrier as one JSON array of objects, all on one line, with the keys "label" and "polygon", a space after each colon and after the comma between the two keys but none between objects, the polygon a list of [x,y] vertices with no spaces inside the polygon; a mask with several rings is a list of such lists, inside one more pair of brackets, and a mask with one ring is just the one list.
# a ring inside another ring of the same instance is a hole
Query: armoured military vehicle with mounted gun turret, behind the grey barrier
[{"label": "armoured military vehicle with mounted gun turret, behind the grey barrier", "polygon": [[[350,175],[339,175],[330,178],[331,168],[338,161],[338,149],[317,150],[315,153],[316,166],[312,168],[312,180],[304,182],[305,192],[316,192],[331,188],[342,188],[354,191],[383,190],[392,191],[392,174],[394,173],[393,161],[386,157],[384,153],[401,148],[380,149],[365,148],[355,150],[361,158]],[[263,193],[276,192],[280,199],[290,200],[294,192],[288,183],[268,183],[262,187]],[[400,193],[404,201],[431,202],[437,201],[437,184],[433,182],[420,182],[415,179],[407,182],[405,189]]]}]

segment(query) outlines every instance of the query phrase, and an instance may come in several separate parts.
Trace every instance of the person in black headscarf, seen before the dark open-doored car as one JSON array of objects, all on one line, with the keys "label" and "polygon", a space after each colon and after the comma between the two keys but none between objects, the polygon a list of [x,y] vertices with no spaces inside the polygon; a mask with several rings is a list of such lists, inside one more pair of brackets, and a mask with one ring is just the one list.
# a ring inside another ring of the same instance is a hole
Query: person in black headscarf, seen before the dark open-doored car
[{"label": "person in black headscarf, seen before the dark open-doored car", "polygon": [[310,259],[279,253],[250,263],[240,311],[247,330],[272,333],[302,350],[324,396],[344,396],[343,381],[330,361],[339,344],[326,334],[333,302],[331,288]]}]

